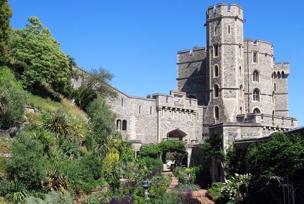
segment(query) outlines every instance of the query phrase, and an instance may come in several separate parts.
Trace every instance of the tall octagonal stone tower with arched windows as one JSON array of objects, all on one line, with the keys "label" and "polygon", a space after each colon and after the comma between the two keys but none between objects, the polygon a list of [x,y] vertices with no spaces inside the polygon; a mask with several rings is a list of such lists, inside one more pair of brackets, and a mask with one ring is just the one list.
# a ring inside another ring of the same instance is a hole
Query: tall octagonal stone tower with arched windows
[{"label": "tall octagonal stone tower with arched windows", "polygon": [[204,127],[236,122],[245,113],[243,8],[217,4],[206,12],[207,22],[207,110]]}]

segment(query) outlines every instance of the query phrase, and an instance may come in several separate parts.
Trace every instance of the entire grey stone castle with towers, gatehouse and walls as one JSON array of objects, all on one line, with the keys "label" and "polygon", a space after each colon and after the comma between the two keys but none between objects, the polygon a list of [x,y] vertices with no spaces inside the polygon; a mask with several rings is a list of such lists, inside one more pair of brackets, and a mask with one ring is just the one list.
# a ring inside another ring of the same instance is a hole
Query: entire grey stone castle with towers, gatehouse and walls
[{"label": "entire grey stone castle with towers, gatehouse and walls", "polygon": [[272,43],[243,39],[244,22],[237,4],[210,6],[206,47],[177,52],[176,91],[142,98],[116,89],[118,97],[107,98],[135,149],[163,140],[191,148],[220,134],[227,147],[297,127],[288,116],[289,62],[274,63]]}]

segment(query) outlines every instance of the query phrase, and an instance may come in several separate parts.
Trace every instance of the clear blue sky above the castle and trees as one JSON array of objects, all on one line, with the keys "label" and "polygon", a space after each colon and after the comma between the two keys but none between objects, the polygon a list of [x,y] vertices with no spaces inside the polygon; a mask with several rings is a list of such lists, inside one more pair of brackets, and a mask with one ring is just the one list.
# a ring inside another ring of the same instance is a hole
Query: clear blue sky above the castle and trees
[{"label": "clear blue sky above the castle and trees", "polygon": [[[11,25],[37,16],[61,49],[85,70],[109,70],[111,85],[128,95],[176,89],[179,50],[206,46],[206,10],[214,1],[21,1],[9,0]],[[270,41],[276,61],[290,62],[289,116],[304,125],[303,1],[235,1],[244,9],[244,38]]]}]

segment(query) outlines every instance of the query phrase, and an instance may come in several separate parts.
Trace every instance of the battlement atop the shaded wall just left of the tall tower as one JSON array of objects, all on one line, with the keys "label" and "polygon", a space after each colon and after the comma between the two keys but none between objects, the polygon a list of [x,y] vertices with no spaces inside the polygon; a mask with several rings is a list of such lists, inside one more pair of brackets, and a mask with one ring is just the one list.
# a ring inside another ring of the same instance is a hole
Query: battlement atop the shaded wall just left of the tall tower
[{"label": "battlement atop the shaded wall just left of the tall tower", "polygon": [[206,47],[194,47],[193,50],[177,52],[177,63],[202,60],[203,58],[206,58]]}]

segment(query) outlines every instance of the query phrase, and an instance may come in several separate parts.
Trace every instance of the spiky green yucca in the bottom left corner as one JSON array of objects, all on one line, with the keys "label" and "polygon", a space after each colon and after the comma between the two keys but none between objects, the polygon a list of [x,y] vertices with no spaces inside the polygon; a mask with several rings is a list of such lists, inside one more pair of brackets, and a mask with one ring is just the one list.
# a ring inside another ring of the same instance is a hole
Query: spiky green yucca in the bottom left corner
[{"label": "spiky green yucca in the bottom left corner", "polygon": [[27,190],[24,184],[15,178],[8,187],[9,193],[6,194],[6,199],[10,202],[18,203],[21,202],[27,196]]}]

